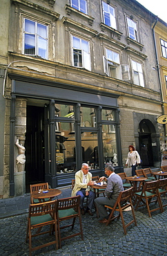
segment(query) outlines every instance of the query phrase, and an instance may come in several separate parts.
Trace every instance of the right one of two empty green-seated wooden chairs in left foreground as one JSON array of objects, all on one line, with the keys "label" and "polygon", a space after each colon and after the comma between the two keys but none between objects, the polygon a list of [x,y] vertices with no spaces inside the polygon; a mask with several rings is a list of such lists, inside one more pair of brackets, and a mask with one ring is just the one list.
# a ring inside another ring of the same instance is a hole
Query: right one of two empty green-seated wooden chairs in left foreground
[{"label": "right one of two empty green-seated wooden chairs in left foreground", "polygon": [[[61,241],[65,239],[70,239],[71,237],[81,235],[81,239],[83,240],[83,231],[81,226],[81,213],[80,213],[80,207],[79,207],[80,200],[81,200],[81,196],[72,196],[65,199],[58,199],[57,227],[58,227],[58,235],[59,235],[59,248],[61,248]],[[66,237],[61,237],[60,230],[62,228],[68,228],[68,227],[71,227],[73,229],[75,226],[76,218],[79,218],[80,231],[72,235],[67,235]],[[62,221],[66,221],[69,219],[72,219],[72,223],[67,224],[66,226],[60,225]]]}]

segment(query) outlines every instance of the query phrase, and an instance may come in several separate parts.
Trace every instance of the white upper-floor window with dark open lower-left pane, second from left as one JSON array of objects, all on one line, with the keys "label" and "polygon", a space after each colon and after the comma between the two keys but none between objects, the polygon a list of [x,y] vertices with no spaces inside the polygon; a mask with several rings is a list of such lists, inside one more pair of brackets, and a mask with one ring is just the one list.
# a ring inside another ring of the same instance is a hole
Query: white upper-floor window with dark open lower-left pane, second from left
[{"label": "white upper-floor window with dark open lower-left pane, second from left", "polygon": [[74,66],[86,68],[90,71],[89,42],[78,37],[72,37],[72,48]]}]

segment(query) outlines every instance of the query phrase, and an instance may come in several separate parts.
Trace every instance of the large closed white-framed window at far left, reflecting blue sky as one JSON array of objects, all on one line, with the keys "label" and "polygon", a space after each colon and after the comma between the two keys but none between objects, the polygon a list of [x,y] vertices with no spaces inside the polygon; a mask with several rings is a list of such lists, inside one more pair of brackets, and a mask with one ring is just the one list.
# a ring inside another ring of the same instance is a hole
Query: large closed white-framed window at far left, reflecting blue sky
[{"label": "large closed white-framed window at far left, reflecting blue sky", "polygon": [[24,19],[24,54],[48,57],[48,28],[30,19]]}]

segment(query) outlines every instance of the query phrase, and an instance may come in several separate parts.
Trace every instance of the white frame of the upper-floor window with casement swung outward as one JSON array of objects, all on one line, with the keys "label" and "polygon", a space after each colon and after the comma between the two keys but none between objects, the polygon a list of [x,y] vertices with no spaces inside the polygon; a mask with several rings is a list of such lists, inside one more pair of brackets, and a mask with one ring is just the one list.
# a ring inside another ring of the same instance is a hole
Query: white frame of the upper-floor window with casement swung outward
[{"label": "white frame of the upper-floor window with casement swung outward", "polygon": [[[109,59],[107,56],[107,51],[110,51],[110,55],[112,57]],[[104,73],[110,77],[120,79],[120,80],[130,80],[129,66],[128,64],[120,64],[119,62],[114,62],[113,55],[117,54],[119,57],[119,53],[106,49],[106,56],[104,56]],[[115,76],[111,74],[111,68],[115,68]]]}]

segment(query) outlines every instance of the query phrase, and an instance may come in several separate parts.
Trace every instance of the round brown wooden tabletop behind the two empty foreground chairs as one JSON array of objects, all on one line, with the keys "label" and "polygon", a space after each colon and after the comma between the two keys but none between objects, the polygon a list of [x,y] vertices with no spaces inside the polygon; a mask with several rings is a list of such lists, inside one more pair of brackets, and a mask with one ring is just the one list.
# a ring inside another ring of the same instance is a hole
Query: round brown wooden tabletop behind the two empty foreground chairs
[{"label": "round brown wooden tabletop behind the two empty foreground chairs", "polygon": [[[44,193],[43,191],[48,191]],[[49,190],[41,190],[40,192],[33,192],[31,196],[35,199],[39,199],[39,202],[45,201],[44,199],[49,198],[49,200],[52,200],[55,196],[59,196],[61,194],[61,190],[58,190],[57,188],[51,188]]]}]

